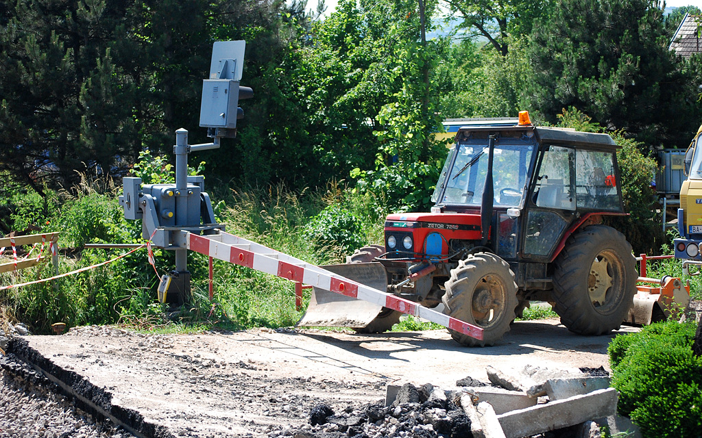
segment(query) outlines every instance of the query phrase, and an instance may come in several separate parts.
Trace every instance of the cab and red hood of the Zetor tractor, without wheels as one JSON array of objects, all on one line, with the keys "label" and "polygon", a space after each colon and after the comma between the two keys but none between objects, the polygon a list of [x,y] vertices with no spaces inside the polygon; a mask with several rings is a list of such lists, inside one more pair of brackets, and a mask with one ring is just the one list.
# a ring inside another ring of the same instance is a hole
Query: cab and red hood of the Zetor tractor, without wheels
[{"label": "cab and red hood of the Zetor tractor, without wheels", "polygon": [[460,259],[482,248],[552,261],[583,221],[623,214],[616,147],[609,135],[531,124],[462,127],[431,212],[388,216],[387,257]]}]

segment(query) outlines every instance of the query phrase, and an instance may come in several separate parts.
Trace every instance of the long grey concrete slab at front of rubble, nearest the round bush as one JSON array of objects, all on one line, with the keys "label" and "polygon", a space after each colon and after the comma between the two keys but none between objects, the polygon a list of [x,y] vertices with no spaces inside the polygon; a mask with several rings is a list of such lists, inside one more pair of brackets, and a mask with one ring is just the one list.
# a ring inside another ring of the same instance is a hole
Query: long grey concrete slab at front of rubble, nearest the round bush
[{"label": "long grey concrete slab at front of rubble, nearest the round bush", "polygon": [[503,413],[498,415],[498,419],[507,438],[531,437],[531,435],[577,425],[594,418],[614,415],[617,401],[616,390],[608,388]]}]

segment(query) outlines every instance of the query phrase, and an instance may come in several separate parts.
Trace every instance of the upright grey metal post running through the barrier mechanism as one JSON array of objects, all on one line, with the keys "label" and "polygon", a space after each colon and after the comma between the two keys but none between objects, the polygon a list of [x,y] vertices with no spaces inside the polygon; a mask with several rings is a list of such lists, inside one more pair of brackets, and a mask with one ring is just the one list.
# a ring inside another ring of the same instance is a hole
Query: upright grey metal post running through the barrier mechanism
[{"label": "upright grey metal post running through the barrier mechanism", "polygon": [[[176,131],[176,226],[187,226],[187,130],[180,128]],[[173,233],[173,242],[179,246],[176,249],[176,278],[171,282],[171,293],[168,303],[182,306],[190,301],[190,273],[187,271],[187,249],[185,242],[180,242],[182,233]]]}]

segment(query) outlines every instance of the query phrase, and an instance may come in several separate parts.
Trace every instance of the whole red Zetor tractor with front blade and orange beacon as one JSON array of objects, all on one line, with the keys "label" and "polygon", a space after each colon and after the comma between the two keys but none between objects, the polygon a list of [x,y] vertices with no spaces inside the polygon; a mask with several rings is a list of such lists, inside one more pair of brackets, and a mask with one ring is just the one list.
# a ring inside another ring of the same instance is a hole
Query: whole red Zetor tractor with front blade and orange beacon
[{"label": "whole red Zetor tractor with front blade and orange beacon", "polygon": [[[428,213],[390,214],[385,246],[327,266],[484,329],[451,332],[492,345],[530,301],[548,301],[569,330],[617,329],[632,306],[631,245],[605,216],[624,213],[617,145],[606,134],[519,122],[466,125],[446,158]],[[401,314],[315,289],[300,325],[385,331]]]}]

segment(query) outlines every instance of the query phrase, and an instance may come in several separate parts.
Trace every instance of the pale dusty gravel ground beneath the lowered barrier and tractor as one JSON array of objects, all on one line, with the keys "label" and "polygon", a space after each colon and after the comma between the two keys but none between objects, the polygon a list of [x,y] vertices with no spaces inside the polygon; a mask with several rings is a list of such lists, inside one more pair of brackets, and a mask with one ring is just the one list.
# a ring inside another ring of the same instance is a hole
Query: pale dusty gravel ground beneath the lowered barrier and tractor
[{"label": "pale dusty gravel ground beneath the lowered barrier and tractor", "polygon": [[[15,326],[0,329],[0,341],[5,333],[25,338],[52,363],[86,376],[116,404],[177,437],[468,438],[470,424],[451,394],[456,387],[483,384],[470,377],[484,373],[483,361],[524,362],[528,354],[539,363],[602,362],[604,337],[571,336],[551,323],[521,325],[525,334],[490,350],[460,348],[443,331],[358,336],[258,329],[181,336],[93,326],[55,338],[25,337],[26,327]],[[451,365],[454,356],[459,366]],[[53,383],[10,359],[0,355],[0,438],[133,436],[81,411],[53,392]],[[437,364],[440,373],[430,368]],[[421,381],[408,378],[413,374],[405,367],[423,369]],[[459,376],[447,382],[449,371]],[[406,388],[411,395],[395,406],[378,404],[385,385],[399,379],[415,382]],[[430,379],[436,391],[423,385]]]}]

